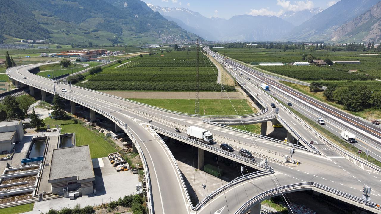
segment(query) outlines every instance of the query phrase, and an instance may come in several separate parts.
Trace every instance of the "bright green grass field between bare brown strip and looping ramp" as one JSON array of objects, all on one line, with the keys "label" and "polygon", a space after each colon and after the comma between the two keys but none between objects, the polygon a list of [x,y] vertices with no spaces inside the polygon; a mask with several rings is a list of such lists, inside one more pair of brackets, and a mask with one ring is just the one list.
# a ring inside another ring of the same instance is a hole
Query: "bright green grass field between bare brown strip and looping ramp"
[{"label": "bright green grass field between bare brown strip and looping ramp", "polygon": [[[176,112],[194,114],[194,99],[131,99],[133,101],[154,105],[163,109]],[[231,104],[231,102],[232,104]],[[243,115],[253,113],[245,99],[236,100],[223,99],[200,99],[200,114],[205,115]],[[233,107],[234,106],[234,107]],[[237,112],[235,112],[237,110]]]}]

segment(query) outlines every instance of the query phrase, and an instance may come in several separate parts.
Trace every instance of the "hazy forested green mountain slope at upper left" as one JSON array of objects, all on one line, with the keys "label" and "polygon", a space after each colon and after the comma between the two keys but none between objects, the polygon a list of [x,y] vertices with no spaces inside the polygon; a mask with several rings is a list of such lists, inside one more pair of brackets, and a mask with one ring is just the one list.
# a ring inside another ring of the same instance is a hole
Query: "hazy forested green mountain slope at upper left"
[{"label": "hazy forested green mountain slope at upper left", "polygon": [[197,38],[140,0],[2,1],[0,34],[78,45],[183,43]]}]

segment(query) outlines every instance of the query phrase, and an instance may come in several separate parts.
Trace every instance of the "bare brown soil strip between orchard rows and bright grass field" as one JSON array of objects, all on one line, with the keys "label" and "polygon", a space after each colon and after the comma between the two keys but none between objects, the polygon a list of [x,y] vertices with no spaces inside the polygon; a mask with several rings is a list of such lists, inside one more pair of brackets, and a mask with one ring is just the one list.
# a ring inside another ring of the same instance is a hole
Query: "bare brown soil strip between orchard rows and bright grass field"
[{"label": "bare brown soil strip between orchard rows and bright grass field", "polygon": [[[194,91],[102,91],[106,94],[122,98],[140,99],[195,99]],[[240,92],[226,92],[221,97],[221,92],[200,92],[200,99],[245,99]]]}]

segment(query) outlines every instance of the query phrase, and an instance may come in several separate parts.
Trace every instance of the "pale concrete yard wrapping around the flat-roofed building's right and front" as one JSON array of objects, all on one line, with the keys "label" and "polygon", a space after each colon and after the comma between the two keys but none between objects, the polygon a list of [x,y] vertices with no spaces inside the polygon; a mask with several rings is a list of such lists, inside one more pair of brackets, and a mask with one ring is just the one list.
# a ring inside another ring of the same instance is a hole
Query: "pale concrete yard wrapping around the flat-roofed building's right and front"
[{"label": "pale concrete yard wrapping around the flat-roofed building's right and front", "polygon": [[34,204],[34,210],[37,209],[40,210],[39,212],[48,212],[49,209],[59,210],[60,207],[73,208],[76,204],[80,204],[81,207],[87,205],[96,206],[118,200],[118,198],[125,195],[136,194],[135,185],[139,182],[138,174],[132,174],[131,171],[115,171],[115,168],[110,164],[107,157],[94,158],[93,167],[96,193],[84,195],[75,198],[75,200],[61,197],[36,202]]}]

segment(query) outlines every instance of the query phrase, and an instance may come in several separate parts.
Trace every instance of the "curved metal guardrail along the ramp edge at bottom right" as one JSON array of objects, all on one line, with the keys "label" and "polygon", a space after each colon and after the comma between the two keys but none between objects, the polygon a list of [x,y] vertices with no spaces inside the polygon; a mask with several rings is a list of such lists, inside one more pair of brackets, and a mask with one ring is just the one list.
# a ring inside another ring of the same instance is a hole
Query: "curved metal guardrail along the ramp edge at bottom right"
[{"label": "curved metal guardrail along the ramp edge at bottom right", "polygon": [[265,198],[268,198],[270,196],[273,196],[275,194],[285,193],[289,190],[295,190],[295,189],[305,189],[305,188],[316,188],[321,189],[325,192],[335,194],[337,196],[341,196],[347,200],[354,201],[356,203],[359,203],[364,206],[369,206],[370,208],[375,208],[381,211],[381,207],[378,204],[372,203],[370,201],[365,201],[362,198],[349,195],[347,193],[341,192],[339,190],[336,190],[334,188],[330,188],[321,184],[317,184],[315,182],[304,182],[304,183],[298,183],[298,184],[290,184],[285,185],[282,187],[277,187],[271,190],[267,190],[263,193],[260,193],[256,195],[255,197],[251,198],[249,201],[247,201],[245,204],[243,204],[237,211],[235,211],[235,214],[245,214],[248,209],[250,209],[253,205],[260,203],[260,201],[264,200]]}]

